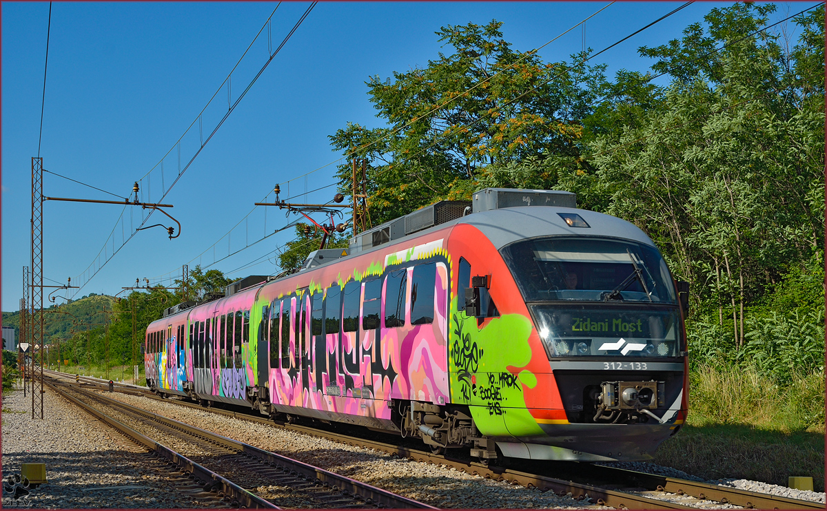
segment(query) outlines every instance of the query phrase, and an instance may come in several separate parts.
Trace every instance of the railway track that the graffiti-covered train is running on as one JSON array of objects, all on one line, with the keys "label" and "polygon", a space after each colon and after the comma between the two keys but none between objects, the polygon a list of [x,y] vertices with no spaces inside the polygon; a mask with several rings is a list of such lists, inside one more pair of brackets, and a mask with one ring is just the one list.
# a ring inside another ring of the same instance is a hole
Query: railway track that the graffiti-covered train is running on
[{"label": "railway track that the graffiti-covered train is running on", "polygon": [[[100,380],[88,380],[88,383],[100,385]],[[128,387],[128,393],[134,394],[135,387]],[[179,399],[161,399],[149,390],[141,394],[150,398],[163,400],[179,406],[207,410],[227,417],[239,418],[255,423],[273,425],[274,421],[252,413],[241,413],[222,408],[203,408],[198,404],[186,403]],[[709,504],[731,504],[747,509],[825,509],[824,504],[806,500],[789,499],[772,494],[762,494],[720,485],[710,485],[691,480],[681,480],[663,475],[653,475],[634,470],[619,469],[611,466],[597,466],[584,463],[562,463],[562,471],[572,478],[597,481],[595,484],[582,484],[562,480],[537,473],[540,470],[521,471],[497,466],[484,466],[474,461],[462,460],[451,456],[433,455],[428,451],[403,447],[386,442],[378,442],[361,437],[353,437],[324,429],[298,424],[275,423],[280,427],[295,432],[303,432],[315,437],[323,437],[347,445],[366,447],[378,451],[393,453],[414,461],[451,466],[466,473],[480,475],[494,480],[506,480],[513,484],[553,491],[557,494],[570,494],[577,499],[588,500],[592,504],[602,504],[618,509],[699,509]],[[624,490],[608,490],[603,486],[620,487]],[[632,492],[632,493],[630,493]],[[682,504],[662,500],[664,498],[680,499]]]}]

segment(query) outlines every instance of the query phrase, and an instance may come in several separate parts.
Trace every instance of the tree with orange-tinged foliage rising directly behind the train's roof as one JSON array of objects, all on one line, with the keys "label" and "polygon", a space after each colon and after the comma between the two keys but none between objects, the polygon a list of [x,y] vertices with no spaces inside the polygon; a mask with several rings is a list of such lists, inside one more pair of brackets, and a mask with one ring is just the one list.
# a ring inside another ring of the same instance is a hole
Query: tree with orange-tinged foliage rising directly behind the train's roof
[{"label": "tree with orange-tinged foliage rising directly behind the train's roof", "polygon": [[[443,26],[436,34],[450,55],[366,82],[387,127],[348,123],[330,137],[337,150],[370,160],[375,224],[441,198],[470,198],[488,165],[580,154],[581,119],[605,88],[605,66],[546,64],[533,50],[512,50],[501,26]],[[351,166],[338,175],[350,194]]]}]

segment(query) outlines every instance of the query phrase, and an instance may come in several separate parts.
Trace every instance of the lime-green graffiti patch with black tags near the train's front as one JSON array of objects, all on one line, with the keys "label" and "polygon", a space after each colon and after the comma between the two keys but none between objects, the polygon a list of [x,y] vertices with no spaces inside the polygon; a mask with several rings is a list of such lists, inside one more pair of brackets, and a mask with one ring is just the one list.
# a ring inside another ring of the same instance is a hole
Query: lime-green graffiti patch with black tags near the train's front
[{"label": "lime-green graffiti patch with black tags near the train's front", "polygon": [[[452,308],[456,311],[456,300]],[[536,387],[537,376],[529,370],[516,375],[509,370],[531,361],[531,329],[522,314],[493,318],[481,330],[476,318],[452,314],[451,400],[471,405],[471,416],[484,435],[543,434],[523,398],[523,387]]]}]

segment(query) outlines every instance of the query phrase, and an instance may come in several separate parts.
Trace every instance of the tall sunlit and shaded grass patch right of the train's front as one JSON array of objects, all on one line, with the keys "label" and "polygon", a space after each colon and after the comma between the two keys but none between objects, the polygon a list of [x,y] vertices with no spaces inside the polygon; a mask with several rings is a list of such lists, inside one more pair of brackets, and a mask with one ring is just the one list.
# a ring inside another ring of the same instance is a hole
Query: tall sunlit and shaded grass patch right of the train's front
[{"label": "tall sunlit and shaded grass patch right of the train's front", "polygon": [[755,366],[701,365],[690,373],[689,418],[655,462],[706,479],[776,485],[791,475],[824,491],[825,371],[786,383]]}]

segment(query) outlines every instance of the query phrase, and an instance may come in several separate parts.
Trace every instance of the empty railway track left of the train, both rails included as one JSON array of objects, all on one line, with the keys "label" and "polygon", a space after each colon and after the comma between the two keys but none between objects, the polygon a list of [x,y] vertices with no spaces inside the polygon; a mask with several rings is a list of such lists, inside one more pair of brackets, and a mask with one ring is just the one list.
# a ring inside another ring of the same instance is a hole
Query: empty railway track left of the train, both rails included
[{"label": "empty railway track left of the train, both rails included", "polygon": [[[236,505],[280,509],[270,502],[280,499],[288,501],[288,507],[291,508],[435,509],[328,470],[236,442],[156,413],[146,412],[116,399],[106,398],[78,384],[52,382],[50,387],[127,436],[135,438],[148,448],[160,451],[166,459],[193,475],[194,479],[203,485],[203,491],[229,495]],[[80,394],[80,397],[70,394]],[[171,437],[176,446],[187,446],[187,451],[191,454],[184,456],[155,442],[144,433],[92,407],[88,404],[89,401],[117,410],[117,413],[126,416],[129,422],[141,423],[167,438]]]}]

